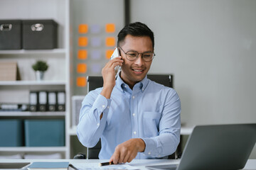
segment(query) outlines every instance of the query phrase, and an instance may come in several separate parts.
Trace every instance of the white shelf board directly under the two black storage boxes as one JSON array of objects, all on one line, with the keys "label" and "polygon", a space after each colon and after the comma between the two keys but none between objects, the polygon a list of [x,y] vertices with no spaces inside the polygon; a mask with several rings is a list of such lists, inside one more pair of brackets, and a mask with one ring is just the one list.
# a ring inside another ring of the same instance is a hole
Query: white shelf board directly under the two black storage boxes
[{"label": "white shelf board directly under the two black storage boxes", "polygon": [[0,50],[1,55],[36,55],[36,54],[65,54],[65,49],[53,50]]}]

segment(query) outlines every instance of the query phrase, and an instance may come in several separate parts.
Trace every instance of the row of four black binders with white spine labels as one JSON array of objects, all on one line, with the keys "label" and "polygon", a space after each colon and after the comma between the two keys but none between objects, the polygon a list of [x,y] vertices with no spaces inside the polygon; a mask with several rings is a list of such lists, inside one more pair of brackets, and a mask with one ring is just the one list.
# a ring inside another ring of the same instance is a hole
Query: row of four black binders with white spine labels
[{"label": "row of four black binders with white spine labels", "polygon": [[65,91],[31,91],[29,101],[32,112],[65,111]]}]

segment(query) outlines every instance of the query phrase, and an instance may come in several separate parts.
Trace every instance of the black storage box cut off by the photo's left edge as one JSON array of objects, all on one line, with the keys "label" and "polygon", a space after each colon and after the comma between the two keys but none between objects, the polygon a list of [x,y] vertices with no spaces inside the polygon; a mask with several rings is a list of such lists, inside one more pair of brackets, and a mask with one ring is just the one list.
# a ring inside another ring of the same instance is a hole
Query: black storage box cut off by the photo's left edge
[{"label": "black storage box cut off by the photo's left edge", "polygon": [[0,50],[21,48],[21,20],[0,20]]}]

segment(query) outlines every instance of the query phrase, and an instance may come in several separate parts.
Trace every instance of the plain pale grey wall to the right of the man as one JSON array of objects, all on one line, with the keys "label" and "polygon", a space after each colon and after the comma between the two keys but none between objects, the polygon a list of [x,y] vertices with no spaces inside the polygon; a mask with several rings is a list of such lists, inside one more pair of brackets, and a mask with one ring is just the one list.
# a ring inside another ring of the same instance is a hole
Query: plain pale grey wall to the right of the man
[{"label": "plain pale grey wall to the right of the man", "polygon": [[256,122],[256,1],[135,0],[155,33],[151,73],[173,73],[186,125]]}]

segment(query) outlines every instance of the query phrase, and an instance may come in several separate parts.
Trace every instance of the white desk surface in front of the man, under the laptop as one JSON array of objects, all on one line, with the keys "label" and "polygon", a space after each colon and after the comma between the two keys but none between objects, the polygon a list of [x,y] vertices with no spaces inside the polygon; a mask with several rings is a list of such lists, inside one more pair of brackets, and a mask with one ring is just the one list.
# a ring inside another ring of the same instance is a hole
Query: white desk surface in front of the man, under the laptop
[{"label": "white desk surface in front of the man, under the laptop", "polygon": [[[108,160],[100,159],[0,159],[0,162],[70,162],[70,164],[90,164],[107,162]],[[139,169],[146,169],[148,165],[160,164],[178,164],[178,159],[134,159],[129,163],[131,166],[136,166]],[[248,159],[244,170],[256,169],[256,159]]]}]

